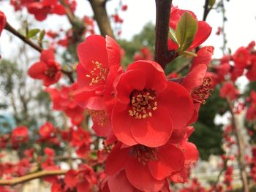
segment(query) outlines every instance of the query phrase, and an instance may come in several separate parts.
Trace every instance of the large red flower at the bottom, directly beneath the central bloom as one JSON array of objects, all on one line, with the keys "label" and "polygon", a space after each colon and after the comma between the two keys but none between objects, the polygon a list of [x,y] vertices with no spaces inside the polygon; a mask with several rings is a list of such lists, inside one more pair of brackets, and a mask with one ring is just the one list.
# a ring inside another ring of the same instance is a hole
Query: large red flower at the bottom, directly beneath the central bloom
[{"label": "large red flower at the bottom, directly beneath the central bloom", "polygon": [[174,145],[127,147],[121,142],[110,152],[105,164],[110,191],[127,188],[127,180],[140,191],[159,191],[166,177],[180,171],[183,165],[184,155]]}]

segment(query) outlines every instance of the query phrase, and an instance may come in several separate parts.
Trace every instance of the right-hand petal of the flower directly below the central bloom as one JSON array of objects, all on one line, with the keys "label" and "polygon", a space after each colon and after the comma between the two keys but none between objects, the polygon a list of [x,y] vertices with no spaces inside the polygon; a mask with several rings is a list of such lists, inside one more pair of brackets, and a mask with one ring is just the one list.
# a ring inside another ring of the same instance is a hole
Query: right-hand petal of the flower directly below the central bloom
[{"label": "right-hand petal of the flower directly below the central bloom", "polygon": [[163,180],[173,172],[181,170],[184,166],[184,155],[182,151],[174,145],[164,145],[159,147],[158,160],[150,161],[148,168],[157,180]]}]

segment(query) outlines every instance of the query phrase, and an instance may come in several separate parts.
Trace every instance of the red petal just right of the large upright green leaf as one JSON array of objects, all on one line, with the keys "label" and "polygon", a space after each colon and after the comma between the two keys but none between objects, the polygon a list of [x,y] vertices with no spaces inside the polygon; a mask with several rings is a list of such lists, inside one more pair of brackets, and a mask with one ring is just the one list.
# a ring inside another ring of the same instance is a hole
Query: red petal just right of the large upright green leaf
[{"label": "red petal just right of the large upright green leaf", "polygon": [[211,26],[209,26],[208,23],[206,23],[205,21],[198,21],[197,34],[195,35],[195,39],[189,49],[192,50],[195,47],[201,45],[203,42],[206,41],[210,34]]}]

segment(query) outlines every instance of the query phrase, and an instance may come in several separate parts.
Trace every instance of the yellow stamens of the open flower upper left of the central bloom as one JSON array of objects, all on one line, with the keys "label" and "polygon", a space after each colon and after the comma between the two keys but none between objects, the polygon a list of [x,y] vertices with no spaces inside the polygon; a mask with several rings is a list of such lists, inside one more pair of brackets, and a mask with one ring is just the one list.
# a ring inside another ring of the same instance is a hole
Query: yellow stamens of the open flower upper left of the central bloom
[{"label": "yellow stamens of the open flower upper left of the central bloom", "polygon": [[89,85],[105,82],[109,70],[104,68],[99,61],[91,61],[91,63],[94,65],[94,69],[91,70],[90,74],[86,74],[86,77],[91,78]]}]

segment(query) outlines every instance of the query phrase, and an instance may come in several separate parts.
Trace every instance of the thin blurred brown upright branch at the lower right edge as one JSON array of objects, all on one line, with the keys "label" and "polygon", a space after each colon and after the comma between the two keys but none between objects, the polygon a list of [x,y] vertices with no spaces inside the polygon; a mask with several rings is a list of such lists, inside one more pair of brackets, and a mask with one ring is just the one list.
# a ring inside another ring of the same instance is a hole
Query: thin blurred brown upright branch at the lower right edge
[{"label": "thin blurred brown upright branch at the lower right edge", "polygon": [[243,183],[242,186],[242,191],[244,192],[249,192],[249,185],[248,185],[248,180],[247,180],[247,176],[246,176],[246,162],[245,162],[245,155],[244,155],[244,142],[243,139],[241,138],[241,132],[238,130],[238,122],[236,119],[236,116],[233,112],[233,102],[229,99],[226,98],[227,100],[227,104],[232,116],[232,124],[233,124],[233,128],[234,128],[234,134],[236,137],[236,141],[237,141],[237,147],[238,147],[238,164],[239,164],[239,168],[240,168],[240,177]]}]

